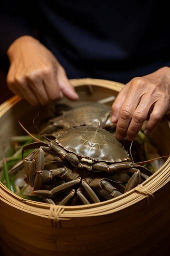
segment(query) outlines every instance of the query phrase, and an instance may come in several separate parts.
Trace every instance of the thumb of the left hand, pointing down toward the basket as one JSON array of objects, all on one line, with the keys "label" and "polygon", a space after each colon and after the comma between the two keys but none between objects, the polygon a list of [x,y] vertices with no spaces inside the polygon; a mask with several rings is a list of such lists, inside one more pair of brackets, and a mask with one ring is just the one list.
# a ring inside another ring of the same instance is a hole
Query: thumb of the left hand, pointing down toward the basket
[{"label": "thumb of the left hand, pointing down toward the basket", "polygon": [[57,70],[57,80],[58,86],[61,92],[69,99],[76,100],[78,99],[78,95],[75,92],[73,86],[68,81],[65,70],[59,65]]}]

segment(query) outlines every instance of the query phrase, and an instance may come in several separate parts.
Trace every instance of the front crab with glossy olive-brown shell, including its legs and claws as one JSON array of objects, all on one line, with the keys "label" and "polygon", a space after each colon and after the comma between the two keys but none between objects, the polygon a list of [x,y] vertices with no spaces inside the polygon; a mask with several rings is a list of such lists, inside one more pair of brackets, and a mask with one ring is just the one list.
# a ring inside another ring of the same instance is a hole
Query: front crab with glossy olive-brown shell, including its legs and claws
[{"label": "front crab with glossy olive-brown shell, including its legs and claws", "polygon": [[[127,162],[128,154],[115,136],[99,127],[74,127],[68,132],[57,136],[55,142],[48,139],[47,142],[42,142],[36,138],[34,138],[34,140],[36,141],[35,143],[26,145],[22,148],[22,153],[27,149],[36,149],[24,159],[24,164],[27,182],[33,186],[35,191],[40,190],[34,192],[39,196],[50,197],[63,191],[67,191],[76,184],[79,184],[81,179],[81,185],[84,189],[86,188],[85,192],[87,194],[89,187],[91,186],[92,188],[93,186],[91,185],[91,182],[87,182],[87,180],[84,179],[84,175],[85,177],[88,177],[88,175],[91,175],[90,172],[105,172],[108,174],[128,173],[132,175],[125,192],[140,183],[139,170],[148,176],[152,175],[152,172],[146,168],[132,162]],[[66,182],[53,188],[51,191],[41,190],[42,184],[44,183],[43,176],[45,173],[43,152],[58,157],[63,164],[62,167],[57,167],[55,171],[51,171],[49,176],[50,178],[59,176]],[[64,163],[69,164],[72,168],[65,167]],[[85,174],[84,171],[86,171]],[[101,177],[102,175],[98,176]],[[110,185],[105,178],[99,180],[97,177],[93,176],[92,179],[94,179],[94,181],[97,180],[98,188],[105,189],[110,195],[113,194],[115,188],[112,187],[110,189],[110,186],[112,185]],[[90,191],[91,190],[92,189],[90,189]],[[71,191],[70,193],[73,192]],[[94,193],[92,193],[92,197],[95,197]],[[91,198],[90,200],[92,201]],[[98,201],[93,200],[92,202]]]}]

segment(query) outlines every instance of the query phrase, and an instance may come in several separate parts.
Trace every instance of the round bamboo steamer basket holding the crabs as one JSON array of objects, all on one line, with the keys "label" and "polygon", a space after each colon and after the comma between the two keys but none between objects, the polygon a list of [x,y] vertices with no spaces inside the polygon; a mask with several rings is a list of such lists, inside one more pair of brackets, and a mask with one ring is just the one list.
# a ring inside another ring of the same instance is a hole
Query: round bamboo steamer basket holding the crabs
[{"label": "round bamboo steamer basket holding the crabs", "polygon": [[[122,84],[107,80],[70,80],[77,107],[116,96]],[[111,105],[111,102],[110,102]],[[52,117],[53,105],[39,109],[39,122]],[[37,107],[17,96],[0,106],[0,159],[9,151],[10,136],[24,134],[17,119],[33,132]],[[37,122],[38,122],[37,120]],[[161,155],[170,155],[170,133],[164,118],[151,138]],[[7,256],[166,255],[170,228],[170,160],[140,190],[91,205],[53,206],[24,200],[0,183],[0,245]],[[154,198],[152,197],[154,196]]]}]

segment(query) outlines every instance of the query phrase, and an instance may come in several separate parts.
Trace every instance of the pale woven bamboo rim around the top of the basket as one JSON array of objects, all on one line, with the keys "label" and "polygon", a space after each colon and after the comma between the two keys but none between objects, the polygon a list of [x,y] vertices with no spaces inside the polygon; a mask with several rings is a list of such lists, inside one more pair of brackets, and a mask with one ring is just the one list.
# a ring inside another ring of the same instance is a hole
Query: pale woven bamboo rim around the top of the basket
[{"label": "pale woven bamboo rim around the top of the basket", "polygon": [[[100,80],[100,79],[72,79],[71,84],[76,88],[79,85],[97,85],[104,86],[105,88],[119,91],[123,84]],[[16,104],[20,98],[13,96],[0,105],[0,117],[14,104]],[[79,206],[51,206],[45,203],[32,202],[25,200],[19,196],[10,192],[5,186],[0,183],[0,199],[13,207],[22,209],[22,211],[29,211],[37,216],[43,216],[48,218],[52,225],[58,220],[69,220],[74,217],[88,217],[88,216],[100,216],[110,214],[116,211],[120,211],[133,205],[141,200],[145,205],[149,205],[153,201],[154,193],[163,187],[170,180],[169,172],[169,159],[166,163],[138,188],[119,196],[118,198],[110,199],[108,201],[95,203],[91,205],[79,205]]]}]

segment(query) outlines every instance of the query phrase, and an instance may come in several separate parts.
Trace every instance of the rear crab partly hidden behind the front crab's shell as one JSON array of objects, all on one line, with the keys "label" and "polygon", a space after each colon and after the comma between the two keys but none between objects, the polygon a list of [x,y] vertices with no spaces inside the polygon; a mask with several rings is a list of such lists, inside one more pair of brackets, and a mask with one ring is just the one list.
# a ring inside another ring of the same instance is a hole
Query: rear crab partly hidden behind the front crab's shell
[{"label": "rear crab partly hidden behind the front crab's shell", "polygon": [[101,118],[101,127],[105,130],[112,130],[115,124],[111,122],[111,107],[99,103],[92,103],[64,112],[62,115],[49,120],[41,134],[53,134],[53,136],[65,133],[77,126],[97,127]]}]

